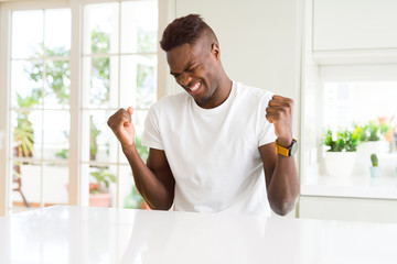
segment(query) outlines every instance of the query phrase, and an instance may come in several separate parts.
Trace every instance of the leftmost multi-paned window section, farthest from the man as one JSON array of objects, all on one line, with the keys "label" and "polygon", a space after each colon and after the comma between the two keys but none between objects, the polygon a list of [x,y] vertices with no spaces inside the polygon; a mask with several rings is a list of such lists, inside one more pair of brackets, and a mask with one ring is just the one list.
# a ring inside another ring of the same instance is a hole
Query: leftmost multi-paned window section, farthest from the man
[{"label": "leftmost multi-paned window section, farthest from the man", "polygon": [[67,204],[71,10],[11,13],[13,206]]}]

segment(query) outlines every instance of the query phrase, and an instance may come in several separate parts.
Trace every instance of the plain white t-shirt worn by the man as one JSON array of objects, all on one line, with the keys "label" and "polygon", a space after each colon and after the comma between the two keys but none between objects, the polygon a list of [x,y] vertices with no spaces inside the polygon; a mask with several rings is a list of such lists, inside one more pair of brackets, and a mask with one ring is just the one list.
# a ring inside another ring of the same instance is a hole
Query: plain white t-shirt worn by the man
[{"label": "plain white t-shirt worn by the man", "polygon": [[174,210],[270,216],[258,147],[275,142],[266,119],[272,94],[233,82],[221,106],[198,107],[187,92],[149,110],[142,144],[163,150],[175,178]]}]

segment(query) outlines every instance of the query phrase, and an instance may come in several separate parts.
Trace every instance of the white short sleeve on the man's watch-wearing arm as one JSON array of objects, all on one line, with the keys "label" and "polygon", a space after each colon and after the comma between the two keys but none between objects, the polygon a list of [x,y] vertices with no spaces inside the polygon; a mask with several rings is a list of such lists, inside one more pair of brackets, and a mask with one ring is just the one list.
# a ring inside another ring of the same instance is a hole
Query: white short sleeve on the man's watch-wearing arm
[{"label": "white short sleeve on the man's watch-wearing arm", "polygon": [[275,142],[277,139],[275,125],[266,119],[266,108],[272,96],[272,92],[267,92],[260,102],[258,146]]}]

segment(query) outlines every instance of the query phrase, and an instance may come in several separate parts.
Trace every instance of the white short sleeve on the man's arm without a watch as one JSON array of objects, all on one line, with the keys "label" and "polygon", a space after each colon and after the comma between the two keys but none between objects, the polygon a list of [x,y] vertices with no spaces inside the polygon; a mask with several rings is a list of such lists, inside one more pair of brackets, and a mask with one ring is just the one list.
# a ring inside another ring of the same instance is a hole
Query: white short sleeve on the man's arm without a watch
[{"label": "white short sleeve on the man's arm without a watch", "polygon": [[155,150],[164,150],[159,130],[159,117],[158,111],[155,110],[155,105],[149,109],[144,121],[142,145]]}]

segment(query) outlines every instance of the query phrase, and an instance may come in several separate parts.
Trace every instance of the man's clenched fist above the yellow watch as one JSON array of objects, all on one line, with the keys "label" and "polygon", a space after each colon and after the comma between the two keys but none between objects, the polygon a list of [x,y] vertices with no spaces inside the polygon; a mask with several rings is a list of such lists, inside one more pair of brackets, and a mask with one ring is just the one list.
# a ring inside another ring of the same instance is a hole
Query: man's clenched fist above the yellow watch
[{"label": "man's clenched fist above the yellow watch", "polygon": [[266,108],[266,119],[275,125],[278,143],[289,146],[292,142],[292,108],[290,98],[273,96]]}]

